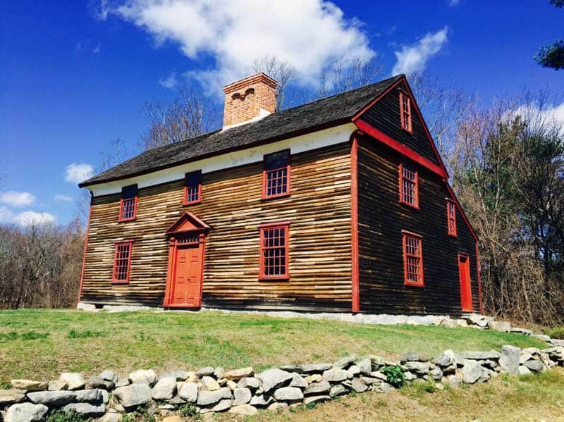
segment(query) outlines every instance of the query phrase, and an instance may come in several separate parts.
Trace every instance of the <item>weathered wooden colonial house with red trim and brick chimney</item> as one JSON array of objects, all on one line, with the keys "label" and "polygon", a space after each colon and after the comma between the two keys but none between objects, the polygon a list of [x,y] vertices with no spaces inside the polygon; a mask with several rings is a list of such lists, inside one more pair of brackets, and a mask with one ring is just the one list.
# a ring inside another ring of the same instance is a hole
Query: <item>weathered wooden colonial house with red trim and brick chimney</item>
[{"label": "weathered wooden colonial house with red trim and brick chimney", "polygon": [[220,130],[80,184],[82,302],[480,311],[477,237],[404,75],[278,112],[262,73],[223,90]]}]

